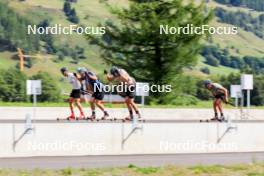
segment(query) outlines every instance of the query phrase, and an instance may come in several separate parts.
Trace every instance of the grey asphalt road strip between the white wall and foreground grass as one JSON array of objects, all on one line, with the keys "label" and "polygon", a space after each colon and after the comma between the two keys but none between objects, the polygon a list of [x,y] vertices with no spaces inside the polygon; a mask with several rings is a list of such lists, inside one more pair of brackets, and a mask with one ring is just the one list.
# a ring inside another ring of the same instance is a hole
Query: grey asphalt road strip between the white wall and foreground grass
[{"label": "grey asphalt road strip between the white wall and foreground grass", "polygon": [[264,161],[264,152],[221,154],[167,154],[167,155],[119,155],[119,156],[74,156],[74,157],[29,157],[0,158],[0,168],[13,169],[61,169],[126,167],[162,165],[213,165],[241,164]]}]

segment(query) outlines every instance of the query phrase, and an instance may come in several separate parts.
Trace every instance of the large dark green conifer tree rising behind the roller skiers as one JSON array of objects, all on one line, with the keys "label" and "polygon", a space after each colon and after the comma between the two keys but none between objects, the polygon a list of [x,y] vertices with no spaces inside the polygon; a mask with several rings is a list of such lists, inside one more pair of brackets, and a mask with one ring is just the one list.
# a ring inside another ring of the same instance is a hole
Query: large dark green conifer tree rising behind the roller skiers
[{"label": "large dark green conifer tree rising behind the roller skiers", "polygon": [[[89,36],[102,48],[103,58],[128,70],[134,77],[151,84],[172,84],[184,67],[197,61],[202,35],[160,34],[160,25],[201,26],[211,19],[204,4],[182,0],[131,0],[128,8],[112,8],[120,23],[106,21],[101,38]],[[121,24],[121,25],[120,25]]]}]

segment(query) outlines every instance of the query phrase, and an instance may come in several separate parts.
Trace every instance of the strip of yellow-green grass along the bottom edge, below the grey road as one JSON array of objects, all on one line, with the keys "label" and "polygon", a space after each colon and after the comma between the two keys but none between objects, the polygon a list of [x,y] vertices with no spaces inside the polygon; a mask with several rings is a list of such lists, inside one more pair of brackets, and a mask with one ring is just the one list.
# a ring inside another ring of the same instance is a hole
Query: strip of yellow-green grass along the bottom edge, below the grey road
[{"label": "strip of yellow-green grass along the bottom edge, below the grey road", "polygon": [[[240,169],[234,169],[240,168]],[[130,164],[128,167],[117,168],[101,168],[101,169],[74,169],[65,168],[60,170],[15,170],[15,169],[0,169],[0,176],[6,175],[21,175],[21,176],[263,176],[263,164],[243,164],[231,166],[194,166],[194,167],[177,167],[177,166],[163,166],[163,167],[137,167]]]}]

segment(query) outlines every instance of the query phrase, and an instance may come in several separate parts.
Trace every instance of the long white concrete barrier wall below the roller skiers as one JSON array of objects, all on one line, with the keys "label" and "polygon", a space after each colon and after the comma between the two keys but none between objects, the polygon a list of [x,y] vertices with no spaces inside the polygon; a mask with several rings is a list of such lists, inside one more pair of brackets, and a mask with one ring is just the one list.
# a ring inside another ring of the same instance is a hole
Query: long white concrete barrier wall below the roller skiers
[{"label": "long white concrete barrier wall below the roller skiers", "polygon": [[4,123],[0,157],[264,151],[263,123],[136,126],[142,129],[131,133],[130,123],[37,123],[23,136],[25,124]]}]

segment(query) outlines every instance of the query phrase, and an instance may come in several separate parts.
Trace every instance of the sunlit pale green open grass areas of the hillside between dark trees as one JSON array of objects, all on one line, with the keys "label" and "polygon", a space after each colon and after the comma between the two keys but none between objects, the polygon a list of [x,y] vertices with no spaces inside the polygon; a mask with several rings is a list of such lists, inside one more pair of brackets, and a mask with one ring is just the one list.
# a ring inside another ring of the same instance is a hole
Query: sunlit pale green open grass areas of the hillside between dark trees
[{"label": "sunlit pale green open grass areas of the hillside between dark trees", "polygon": [[[0,0],[6,1],[6,0]],[[114,6],[127,6],[128,0],[109,0]],[[26,1],[18,1],[18,0],[9,0],[9,7],[13,8],[19,14],[26,16],[27,18],[33,20],[36,24],[44,19],[49,19],[51,24],[59,23],[62,25],[71,24],[65,17],[62,7],[64,0],[26,0]],[[243,10],[246,12],[250,12],[254,15],[259,15],[260,12],[252,11],[247,8],[241,7],[229,7],[226,5],[215,3],[214,1],[210,1],[210,7],[222,7],[227,10]],[[78,3],[73,3],[73,7],[77,11],[77,15],[80,18],[80,23],[83,25],[97,25],[99,22],[102,22],[108,18],[115,19],[105,7],[104,4],[100,3],[99,0],[87,1],[87,0],[78,0]],[[212,22],[213,26],[228,26],[227,24],[217,22],[217,19],[214,19]],[[230,36],[230,35],[214,35],[213,42],[218,44],[222,49],[228,48],[230,54],[235,56],[263,56],[263,46],[264,40],[256,37],[254,34],[250,32],[246,32],[243,30],[239,31],[239,35]],[[100,58],[99,49],[95,46],[91,46],[88,44],[85,36],[80,35],[59,35],[55,36],[55,45],[60,46],[63,44],[68,44],[70,47],[74,47],[76,45],[81,46],[85,49],[86,59],[82,60],[79,65],[86,66],[96,72],[102,73],[103,68],[107,67],[104,64],[104,61]],[[15,66],[17,61],[11,60],[10,56],[15,53],[9,52],[0,52],[0,68],[1,67],[10,67]],[[35,54],[35,53],[32,53]],[[202,67],[208,67],[211,71],[211,74],[228,74],[231,72],[237,72],[238,70],[228,68],[228,67],[211,67],[203,63],[203,58],[200,59],[197,67],[190,72],[191,74],[201,74],[199,71]],[[30,69],[26,69],[26,73],[31,75],[36,73],[39,70],[46,70],[54,77],[59,80],[60,73],[58,72],[61,66],[67,65],[70,69],[75,69],[78,65],[72,64],[71,59],[66,59],[63,62],[55,63],[52,59],[35,59],[33,62],[33,67]]]}]

